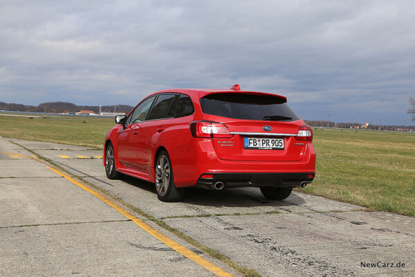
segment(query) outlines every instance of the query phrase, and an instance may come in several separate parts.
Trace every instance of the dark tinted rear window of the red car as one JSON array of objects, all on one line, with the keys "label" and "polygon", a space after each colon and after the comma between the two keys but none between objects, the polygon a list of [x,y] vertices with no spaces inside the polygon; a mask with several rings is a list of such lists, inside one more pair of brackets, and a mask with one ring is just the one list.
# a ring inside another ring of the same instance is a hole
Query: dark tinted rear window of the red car
[{"label": "dark tinted rear window of the red car", "polygon": [[266,94],[212,93],[201,98],[204,114],[248,120],[299,120],[284,98]]}]

